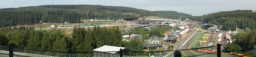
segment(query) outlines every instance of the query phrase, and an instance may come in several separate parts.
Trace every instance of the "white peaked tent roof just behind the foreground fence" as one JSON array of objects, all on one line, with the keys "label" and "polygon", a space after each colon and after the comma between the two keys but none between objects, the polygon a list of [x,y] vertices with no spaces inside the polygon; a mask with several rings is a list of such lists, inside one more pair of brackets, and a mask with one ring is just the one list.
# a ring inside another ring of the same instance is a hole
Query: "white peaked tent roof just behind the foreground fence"
[{"label": "white peaked tent roof just behind the foreground fence", "polygon": [[100,48],[94,49],[94,51],[101,51],[101,52],[107,52],[107,53],[117,53],[117,52],[108,52],[108,51],[119,51],[120,49],[124,50],[126,49],[125,47],[115,47],[115,46],[108,46],[104,45]]}]

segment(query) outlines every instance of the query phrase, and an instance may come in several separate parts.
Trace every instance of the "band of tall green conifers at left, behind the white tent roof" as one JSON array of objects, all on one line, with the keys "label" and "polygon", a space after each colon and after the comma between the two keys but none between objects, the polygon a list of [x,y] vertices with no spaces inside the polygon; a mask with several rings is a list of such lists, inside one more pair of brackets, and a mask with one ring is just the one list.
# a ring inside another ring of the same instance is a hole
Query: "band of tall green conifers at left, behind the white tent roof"
[{"label": "band of tall green conifers at left, behind the white tent roof", "polygon": [[[62,30],[35,30],[33,27],[1,28],[0,45],[34,50],[85,52],[103,45],[126,47],[142,51],[139,39],[133,42],[122,41],[119,27],[74,28],[72,36],[64,35]],[[136,44],[136,45],[134,45]]]}]

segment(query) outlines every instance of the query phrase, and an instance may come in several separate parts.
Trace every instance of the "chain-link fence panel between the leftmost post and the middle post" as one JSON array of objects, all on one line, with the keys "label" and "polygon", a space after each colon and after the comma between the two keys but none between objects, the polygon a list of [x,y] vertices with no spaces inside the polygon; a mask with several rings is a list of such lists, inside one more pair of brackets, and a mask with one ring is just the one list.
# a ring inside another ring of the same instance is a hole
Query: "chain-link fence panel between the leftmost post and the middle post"
[{"label": "chain-link fence panel between the leftmost post and the middle post", "polygon": [[111,54],[109,52],[58,52],[58,51],[44,51],[44,50],[30,50],[22,48],[14,48],[14,55],[27,57],[119,57],[119,55]]}]

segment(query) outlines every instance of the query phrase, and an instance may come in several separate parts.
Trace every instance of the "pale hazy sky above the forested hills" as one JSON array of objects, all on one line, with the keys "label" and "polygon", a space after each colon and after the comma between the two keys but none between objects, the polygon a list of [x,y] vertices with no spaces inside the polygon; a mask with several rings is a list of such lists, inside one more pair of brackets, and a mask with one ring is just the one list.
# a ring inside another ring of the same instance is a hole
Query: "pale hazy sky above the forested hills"
[{"label": "pale hazy sky above the forested hills", "polygon": [[40,5],[105,5],[165,10],[200,16],[220,11],[256,10],[256,0],[0,0],[0,8]]}]

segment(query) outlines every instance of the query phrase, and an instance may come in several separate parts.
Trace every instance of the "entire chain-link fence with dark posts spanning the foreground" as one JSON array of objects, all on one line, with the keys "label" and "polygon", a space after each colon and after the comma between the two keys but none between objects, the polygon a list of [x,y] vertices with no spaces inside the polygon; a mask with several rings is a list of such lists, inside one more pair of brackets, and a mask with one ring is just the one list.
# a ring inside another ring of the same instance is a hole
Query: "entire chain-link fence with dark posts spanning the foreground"
[{"label": "entire chain-link fence with dark posts spanning the foreground", "polygon": [[[164,51],[58,52],[0,46],[0,57],[255,57],[256,43]],[[112,54],[114,53],[114,54]]]}]

